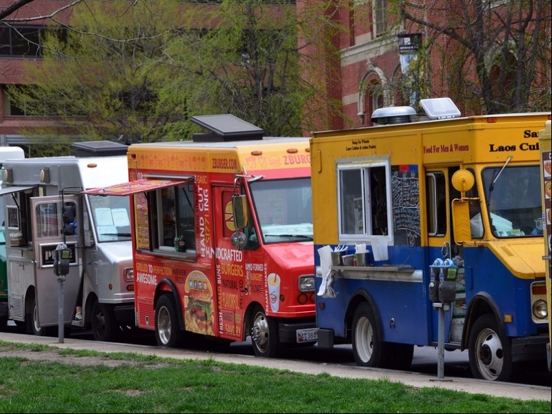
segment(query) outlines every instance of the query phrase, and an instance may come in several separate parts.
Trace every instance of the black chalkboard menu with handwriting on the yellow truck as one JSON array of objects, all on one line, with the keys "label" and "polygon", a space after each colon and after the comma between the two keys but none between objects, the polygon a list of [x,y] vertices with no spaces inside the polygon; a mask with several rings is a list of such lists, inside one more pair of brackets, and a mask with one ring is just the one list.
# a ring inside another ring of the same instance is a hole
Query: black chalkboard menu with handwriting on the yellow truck
[{"label": "black chalkboard menu with handwriting on the yellow truck", "polygon": [[391,166],[395,244],[420,246],[420,177],[416,165]]}]

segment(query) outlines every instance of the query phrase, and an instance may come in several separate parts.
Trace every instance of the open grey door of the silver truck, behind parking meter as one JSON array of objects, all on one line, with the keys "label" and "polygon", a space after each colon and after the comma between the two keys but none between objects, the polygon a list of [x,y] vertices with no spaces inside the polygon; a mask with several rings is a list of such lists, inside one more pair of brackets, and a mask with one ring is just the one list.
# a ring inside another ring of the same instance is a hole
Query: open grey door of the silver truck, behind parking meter
[{"label": "open grey door of the silver truck, behind parking meter", "polygon": [[63,282],[63,320],[71,322],[79,293],[81,272],[79,232],[82,232],[79,197],[32,197],[32,246],[36,272],[37,317],[39,326],[58,324],[59,282],[54,273],[54,250],[62,243],[70,249],[69,273]]}]

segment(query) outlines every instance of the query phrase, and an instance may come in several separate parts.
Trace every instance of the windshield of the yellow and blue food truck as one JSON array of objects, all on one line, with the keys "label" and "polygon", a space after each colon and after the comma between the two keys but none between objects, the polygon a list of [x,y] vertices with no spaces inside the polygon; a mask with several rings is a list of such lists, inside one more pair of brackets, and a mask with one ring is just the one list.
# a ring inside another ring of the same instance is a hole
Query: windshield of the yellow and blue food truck
[{"label": "windshield of the yellow and blue food truck", "polygon": [[485,168],[482,172],[495,237],[542,236],[540,167]]}]

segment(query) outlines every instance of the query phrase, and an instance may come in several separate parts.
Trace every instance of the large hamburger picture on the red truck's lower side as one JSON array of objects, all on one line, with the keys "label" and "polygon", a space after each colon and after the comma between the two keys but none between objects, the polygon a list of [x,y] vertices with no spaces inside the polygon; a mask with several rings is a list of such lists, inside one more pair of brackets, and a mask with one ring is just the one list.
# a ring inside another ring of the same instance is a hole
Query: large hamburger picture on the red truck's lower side
[{"label": "large hamburger picture on the red truck's lower side", "polygon": [[197,270],[186,278],[186,330],[213,335],[213,289],[204,273]]}]

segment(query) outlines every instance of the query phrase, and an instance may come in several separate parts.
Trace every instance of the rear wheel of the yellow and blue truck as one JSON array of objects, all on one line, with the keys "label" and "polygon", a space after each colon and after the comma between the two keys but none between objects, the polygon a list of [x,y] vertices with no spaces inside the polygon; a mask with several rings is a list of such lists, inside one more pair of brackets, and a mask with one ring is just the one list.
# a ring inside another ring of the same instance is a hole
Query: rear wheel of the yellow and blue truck
[{"label": "rear wheel of the yellow and blue truck", "polygon": [[353,317],[353,356],[359,366],[380,367],[384,362],[383,342],[378,337],[370,306],[359,304]]}]

